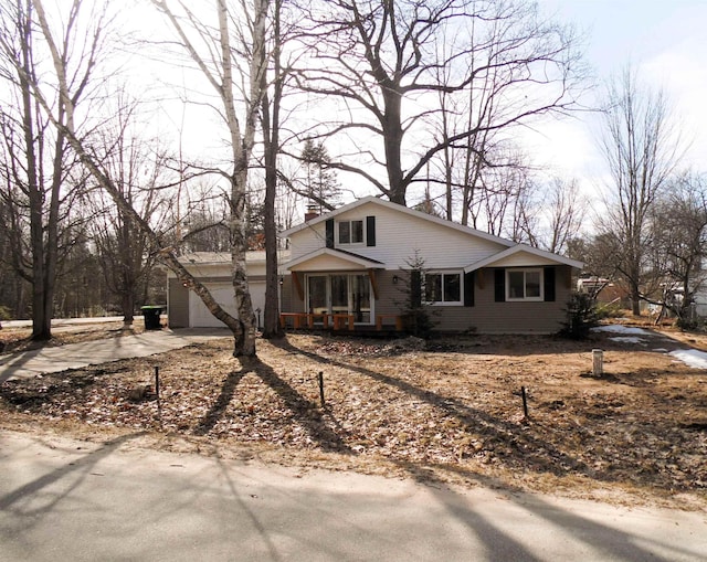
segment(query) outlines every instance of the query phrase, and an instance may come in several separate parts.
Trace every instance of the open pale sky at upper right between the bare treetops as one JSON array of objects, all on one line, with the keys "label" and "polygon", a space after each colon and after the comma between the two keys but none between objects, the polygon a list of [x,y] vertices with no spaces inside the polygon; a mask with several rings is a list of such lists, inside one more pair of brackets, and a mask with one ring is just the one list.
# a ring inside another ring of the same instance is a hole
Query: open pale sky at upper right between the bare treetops
[{"label": "open pale sky at upper right between the bare treetops", "polygon": [[[690,146],[685,163],[707,172],[707,0],[539,0],[542,10],[571,22],[587,35],[585,62],[602,85],[631,64],[651,88],[664,88]],[[539,128],[529,150],[538,163],[578,178],[588,191],[605,182],[597,146],[599,116],[550,121]]]}]

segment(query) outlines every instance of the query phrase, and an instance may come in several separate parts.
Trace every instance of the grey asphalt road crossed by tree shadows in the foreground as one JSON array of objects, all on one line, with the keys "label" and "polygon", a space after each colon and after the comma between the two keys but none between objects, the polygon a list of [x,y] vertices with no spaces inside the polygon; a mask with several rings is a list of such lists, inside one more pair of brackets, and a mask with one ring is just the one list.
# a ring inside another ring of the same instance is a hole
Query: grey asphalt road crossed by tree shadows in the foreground
[{"label": "grey asphalt road crossed by tree shadows in the foreground", "polygon": [[704,511],[125,450],[133,438],[0,434],[0,560],[707,559]]}]

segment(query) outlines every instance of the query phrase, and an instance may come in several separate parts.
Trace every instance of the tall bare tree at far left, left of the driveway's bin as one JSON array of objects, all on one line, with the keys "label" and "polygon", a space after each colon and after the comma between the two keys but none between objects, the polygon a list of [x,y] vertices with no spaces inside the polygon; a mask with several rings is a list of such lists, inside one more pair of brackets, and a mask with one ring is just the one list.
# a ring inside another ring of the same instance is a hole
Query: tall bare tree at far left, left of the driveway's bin
[{"label": "tall bare tree at far left, left of the driveway's bin", "polygon": [[[64,65],[61,84],[52,82],[45,72],[46,51],[52,45],[35,33],[35,19],[40,15],[36,2],[14,0],[0,8],[2,76],[14,94],[12,100],[6,99],[9,103],[3,104],[0,123],[7,187],[2,193],[11,212],[6,233],[14,238],[15,271],[32,286],[32,338],[36,340],[51,338],[62,243],[67,243],[63,247],[71,247],[72,236],[80,234],[83,221],[75,213],[74,203],[84,180],[62,127],[70,119],[67,105],[75,108],[92,95],[91,72],[102,49],[92,30],[103,25],[106,12],[96,6],[86,30],[78,22],[80,8],[81,2],[74,0],[63,25],[54,30],[54,47],[62,50]],[[34,92],[40,88],[46,107],[35,100]],[[48,107],[53,109],[55,123],[49,119]]]}]

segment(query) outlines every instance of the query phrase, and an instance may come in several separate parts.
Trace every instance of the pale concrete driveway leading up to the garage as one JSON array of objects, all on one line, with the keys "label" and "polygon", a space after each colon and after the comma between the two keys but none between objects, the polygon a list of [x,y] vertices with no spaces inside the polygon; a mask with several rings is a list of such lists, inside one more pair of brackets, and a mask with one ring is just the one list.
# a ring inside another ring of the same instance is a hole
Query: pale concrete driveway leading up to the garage
[{"label": "pale concrete driveway leading up to the garage", "polygon": [[162,329],[145,331],[136,336],[10,353],[0,356],[0,382],[80,369],[89,364],[109,363],[120,359],[147,357],[213,338],[228,337],[231,337],[231,332],[226,329]]}]

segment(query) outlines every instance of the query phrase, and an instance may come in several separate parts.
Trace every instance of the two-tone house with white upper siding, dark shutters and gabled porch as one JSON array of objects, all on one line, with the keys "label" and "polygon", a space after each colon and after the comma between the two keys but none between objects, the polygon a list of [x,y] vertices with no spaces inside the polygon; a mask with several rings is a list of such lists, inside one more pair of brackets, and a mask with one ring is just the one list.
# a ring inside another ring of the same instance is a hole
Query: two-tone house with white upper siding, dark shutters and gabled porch
[{"label": "two-tone house with white upper siding, dark shutters and gabled porch", "polygon": [[436,330],[555,332],[583,265],[373,197],[281,236],[282,320],[296,327],[400,327],[401,279],[418,255]]}]

